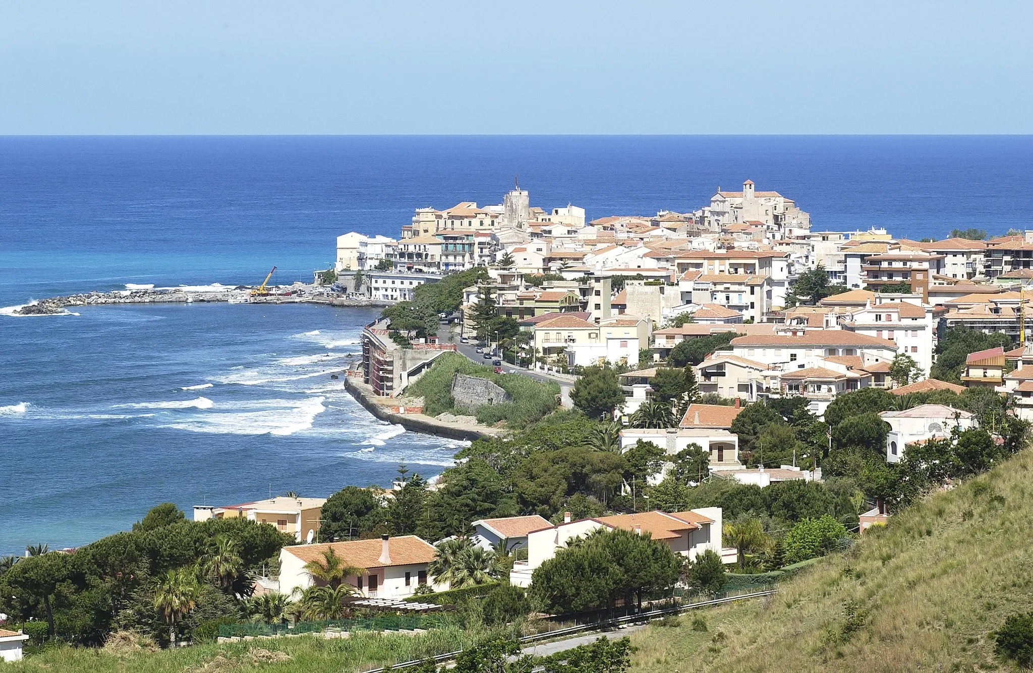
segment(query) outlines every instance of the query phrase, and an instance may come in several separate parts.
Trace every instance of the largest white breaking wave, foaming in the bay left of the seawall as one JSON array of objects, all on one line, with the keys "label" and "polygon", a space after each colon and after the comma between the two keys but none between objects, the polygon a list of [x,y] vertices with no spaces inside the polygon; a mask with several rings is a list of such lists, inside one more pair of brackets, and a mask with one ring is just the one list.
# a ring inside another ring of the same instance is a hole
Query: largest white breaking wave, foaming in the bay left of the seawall
[{"label": "largest white breaking wave, foaming in the bay left of the seawall", "polygon": [[323,405],[324,399],[310,397],[304,400],[256,400],[238,403],[234,404],[236,408],[259,406],[265,408],[256,411],[198,414],[160,427],[212,434],[289,436],[312,427],[315,418],[326,409]]}]

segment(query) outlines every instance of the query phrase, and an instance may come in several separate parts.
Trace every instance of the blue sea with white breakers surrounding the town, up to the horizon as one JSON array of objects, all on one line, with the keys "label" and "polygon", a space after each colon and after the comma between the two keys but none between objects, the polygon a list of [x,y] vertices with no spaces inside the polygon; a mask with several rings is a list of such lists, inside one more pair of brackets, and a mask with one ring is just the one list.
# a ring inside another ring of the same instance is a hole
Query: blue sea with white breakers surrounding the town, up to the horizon
[{"label": "blue sea with white breakers surrounding the town, up to the horizon", "polygon": [[[747,178],[815,230],[999,234],[1033,212],[1031,136],[0,137],[0,307],[126,283],[309,280],[348,231],[500,203],[689,211]],[[459,443],[372,418],[330,371],[375,311],[103,306],[0,315],[0,554],[81,545],[171,500],[427,476]]]}]

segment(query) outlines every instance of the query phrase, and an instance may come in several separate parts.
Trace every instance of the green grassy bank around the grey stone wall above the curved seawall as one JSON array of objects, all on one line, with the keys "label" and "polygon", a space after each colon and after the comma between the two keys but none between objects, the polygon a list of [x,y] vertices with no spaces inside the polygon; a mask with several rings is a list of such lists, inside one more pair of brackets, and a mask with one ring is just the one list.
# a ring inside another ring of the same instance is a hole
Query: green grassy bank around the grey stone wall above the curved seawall
[{"label": "green grassy bank around the grey stone wall above the curved seawall", "polygon": [[[451,396],[451,381],[456,373],[488,378],[512,397],[511,402],[483,404],[476,409],[456,408]],[[438,357],[431,368],[406,390],[407,397],[424,398],[424,414],[438,416],[473,412],[477,422],[495,425],[505,421],[510,427],[523,428],[556,409],[557,384],[542,384],[523,374],[496,374],[493,367],[478,365],[464,356],[445,353]]]}]

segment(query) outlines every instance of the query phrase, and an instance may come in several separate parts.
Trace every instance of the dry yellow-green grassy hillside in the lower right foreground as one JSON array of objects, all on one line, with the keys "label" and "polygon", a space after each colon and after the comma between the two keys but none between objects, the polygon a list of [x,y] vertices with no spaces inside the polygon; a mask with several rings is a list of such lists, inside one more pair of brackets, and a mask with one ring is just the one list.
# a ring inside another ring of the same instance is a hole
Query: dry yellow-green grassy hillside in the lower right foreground
[{"label": "dry yellow-green grassy hillside in the lower right foreground", "polygon": [[[1031,478],[1033,450],[895,517],[772,600],[708,613],[706,634],[691,618],[651,626],[636,634],[636,669],[1007,670],[988,634],[1033,609]],[[862,615],[853,633],[848,602]]]}]

